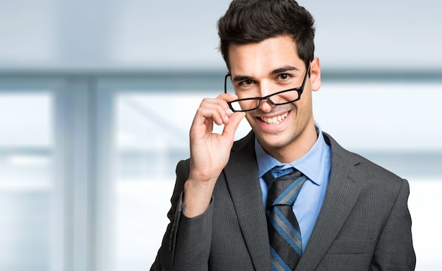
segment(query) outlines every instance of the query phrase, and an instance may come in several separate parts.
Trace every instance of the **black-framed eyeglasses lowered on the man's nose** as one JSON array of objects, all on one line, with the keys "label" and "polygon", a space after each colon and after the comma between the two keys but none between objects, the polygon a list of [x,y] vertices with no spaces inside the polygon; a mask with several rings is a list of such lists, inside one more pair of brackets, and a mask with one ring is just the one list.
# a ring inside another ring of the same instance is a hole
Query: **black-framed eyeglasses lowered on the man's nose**
[{"label": "black-framed eyeglasses lowered on the man's nose", "polygon": [[[267,95],[265,97],[238,99],[232,102],[227,102],[227,104],[229,104],[229,107],[230,109],[232,109],[232,112],[248,112],[260,107],[261,101],[263,100],[267,100],[268,102],[270,102],[270,104],[274,106],[296,102],[297,100],[301,99],[301,94],[304,91],[304,85],[306,83],[306,78],[309,71],[310,71],[310,66],[307,68],[304,80],[302,81],[302,85],[299,88],[290,88],[289,90],[282,90]],[[229,78],[229,76],[231,76],[230,73],[227,73],[227,75],[224,78],[225,93],[227,93],[227,78]]]}]

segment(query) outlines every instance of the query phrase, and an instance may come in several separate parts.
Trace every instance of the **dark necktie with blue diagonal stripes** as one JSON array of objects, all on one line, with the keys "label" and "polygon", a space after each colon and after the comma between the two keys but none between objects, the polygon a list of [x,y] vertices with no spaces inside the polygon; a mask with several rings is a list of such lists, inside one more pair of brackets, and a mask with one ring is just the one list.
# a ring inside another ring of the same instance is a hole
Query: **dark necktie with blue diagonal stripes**
[{"label": "dark necktie with blue diagonal stripes", "polygon": [[268,171],[263,179],[270,182],[266,213],[272,269],[294,270],[302,255],[302,243],[301,231],[292,208],[306,176],[294,169],[277,178]]}]

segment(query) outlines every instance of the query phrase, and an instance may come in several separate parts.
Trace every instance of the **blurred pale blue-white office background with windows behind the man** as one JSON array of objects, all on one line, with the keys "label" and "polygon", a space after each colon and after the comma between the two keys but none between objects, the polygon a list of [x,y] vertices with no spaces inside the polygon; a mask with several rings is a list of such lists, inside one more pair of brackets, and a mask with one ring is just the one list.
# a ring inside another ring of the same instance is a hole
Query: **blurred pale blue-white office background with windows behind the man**
[{"label": "blurred pale blue-white office background with windows behind the man", "polygon": [[[0,0],[0,270],[149,269],[193,114],[223,91],[228,4]],[[417,270],[442,270],[442,4],[299,4],[316,121],[410,181]]]}]

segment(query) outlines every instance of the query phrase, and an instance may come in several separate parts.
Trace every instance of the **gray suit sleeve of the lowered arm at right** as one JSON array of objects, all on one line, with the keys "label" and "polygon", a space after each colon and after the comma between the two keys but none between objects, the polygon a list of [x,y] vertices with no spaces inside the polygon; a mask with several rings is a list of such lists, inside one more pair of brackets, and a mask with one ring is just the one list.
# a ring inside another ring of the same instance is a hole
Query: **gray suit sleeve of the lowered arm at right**
[{"label": "gray suit sleeve of the lowered arm at right", "polygon": [[409,194],[410,186],[403,180],[386,227],[378,240],[371,270],[414,270],[416,255],[412,243],[412,219],[407,207]]}]

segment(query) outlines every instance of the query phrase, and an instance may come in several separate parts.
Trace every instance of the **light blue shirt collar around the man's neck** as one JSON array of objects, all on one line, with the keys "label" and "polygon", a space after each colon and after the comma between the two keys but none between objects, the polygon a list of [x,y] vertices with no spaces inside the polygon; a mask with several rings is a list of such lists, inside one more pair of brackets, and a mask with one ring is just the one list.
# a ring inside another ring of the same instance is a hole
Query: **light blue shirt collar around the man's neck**
[{"label": "light blue shirt collar around the man's neck", "polygon": [[325,143],[323,138],[321,126],[319,126],[316,121],[315,126],[316,133],[318,134],[316,143],[306,155],[288,164],[279,162],[277,159],[269,155],[268,152],[265,152],[261,144],[258,143],[258,140],[255,138],[255,152],[258,162],[259,176],[262,177],[265,172],[276,166],[283,166],[283,168],[294,167],[305,174],[311,181],[313,181],[313,183],[321,186],[321,183],[323,182],[321,179],[321,168],[323,167],[323,164],[325,164],[327,143]]}]

